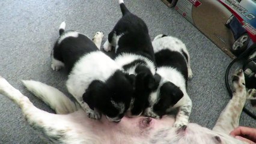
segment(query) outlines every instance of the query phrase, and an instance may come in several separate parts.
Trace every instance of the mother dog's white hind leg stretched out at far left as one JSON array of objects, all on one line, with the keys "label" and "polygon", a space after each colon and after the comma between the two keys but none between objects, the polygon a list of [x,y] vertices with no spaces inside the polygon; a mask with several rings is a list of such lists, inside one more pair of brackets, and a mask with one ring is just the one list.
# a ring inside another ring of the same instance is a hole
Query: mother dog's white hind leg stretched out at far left
[{"label": "mother dog's white hind leg stretched out at far left", "polygon": [[28,124],[52,143],[61,143],[67,137],[69,125],[63,116],[48,113],[35,107],[28,97],[13,88],[3,77],[0,77],[0,94],[5,95],[22,109]]}]

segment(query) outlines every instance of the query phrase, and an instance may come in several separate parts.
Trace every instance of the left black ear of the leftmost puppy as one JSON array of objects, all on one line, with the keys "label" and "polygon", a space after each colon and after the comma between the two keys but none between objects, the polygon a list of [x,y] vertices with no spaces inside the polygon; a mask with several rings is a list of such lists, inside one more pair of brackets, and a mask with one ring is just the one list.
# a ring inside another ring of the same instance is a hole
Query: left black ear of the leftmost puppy
[{"label": "left black ear of the leftmost puppy", "polygon": [[90,109],[94,110],[95,107],[95,101],[97,97],[97,91],[100,91],[103,87],[103,82],[99,80],[94,80],[91,82],[91,84],[86,89],[85,93],[83,94],[82,98],[85,103],[88,104]]}]

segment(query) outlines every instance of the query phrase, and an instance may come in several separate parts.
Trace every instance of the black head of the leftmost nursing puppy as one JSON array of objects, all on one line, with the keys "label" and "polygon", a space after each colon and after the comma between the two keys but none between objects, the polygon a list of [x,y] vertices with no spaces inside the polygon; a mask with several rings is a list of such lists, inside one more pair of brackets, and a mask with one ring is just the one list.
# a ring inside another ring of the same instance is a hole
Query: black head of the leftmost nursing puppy
[{"label": "black head of the leftmost nursing puppy", "polygon": [[106,82],[94,80],[83,95],[91,109],[106,115],[109,121],[121,121],[132,98],[133,76],[116,71]]}]

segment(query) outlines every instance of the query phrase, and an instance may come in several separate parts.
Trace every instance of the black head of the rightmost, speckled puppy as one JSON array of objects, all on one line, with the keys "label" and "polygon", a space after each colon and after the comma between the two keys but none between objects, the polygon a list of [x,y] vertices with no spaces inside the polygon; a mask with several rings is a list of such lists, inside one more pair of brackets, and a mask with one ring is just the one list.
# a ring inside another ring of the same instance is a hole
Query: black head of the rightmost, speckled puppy
[{"label": "black head of the rightmost, speckled puppy", "polygon": [[172,82],[165,82],[160,86],[158,101],[153,105],[153,112],[159,116],[166,114],[169,107],[174,106],[183,97],[183,92]]}]

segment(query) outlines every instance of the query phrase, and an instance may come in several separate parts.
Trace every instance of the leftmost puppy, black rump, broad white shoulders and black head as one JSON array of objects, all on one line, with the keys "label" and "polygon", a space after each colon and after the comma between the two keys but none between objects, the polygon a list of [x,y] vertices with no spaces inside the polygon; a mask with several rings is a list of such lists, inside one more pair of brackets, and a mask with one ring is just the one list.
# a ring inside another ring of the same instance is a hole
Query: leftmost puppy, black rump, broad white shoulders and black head
[{"label": "leftmost puppy, black rump, broad white shoulders and black head", "polygon": [[90,118],[100,119],[102,113],[109,121],[120,121],[133,97],[133,80],[99,50],[103,32],[97,32],[93,42],[79,32],[64,32],[65,27],[61,23],[52,51],[52,69],[67,68],[67,89]]}]

